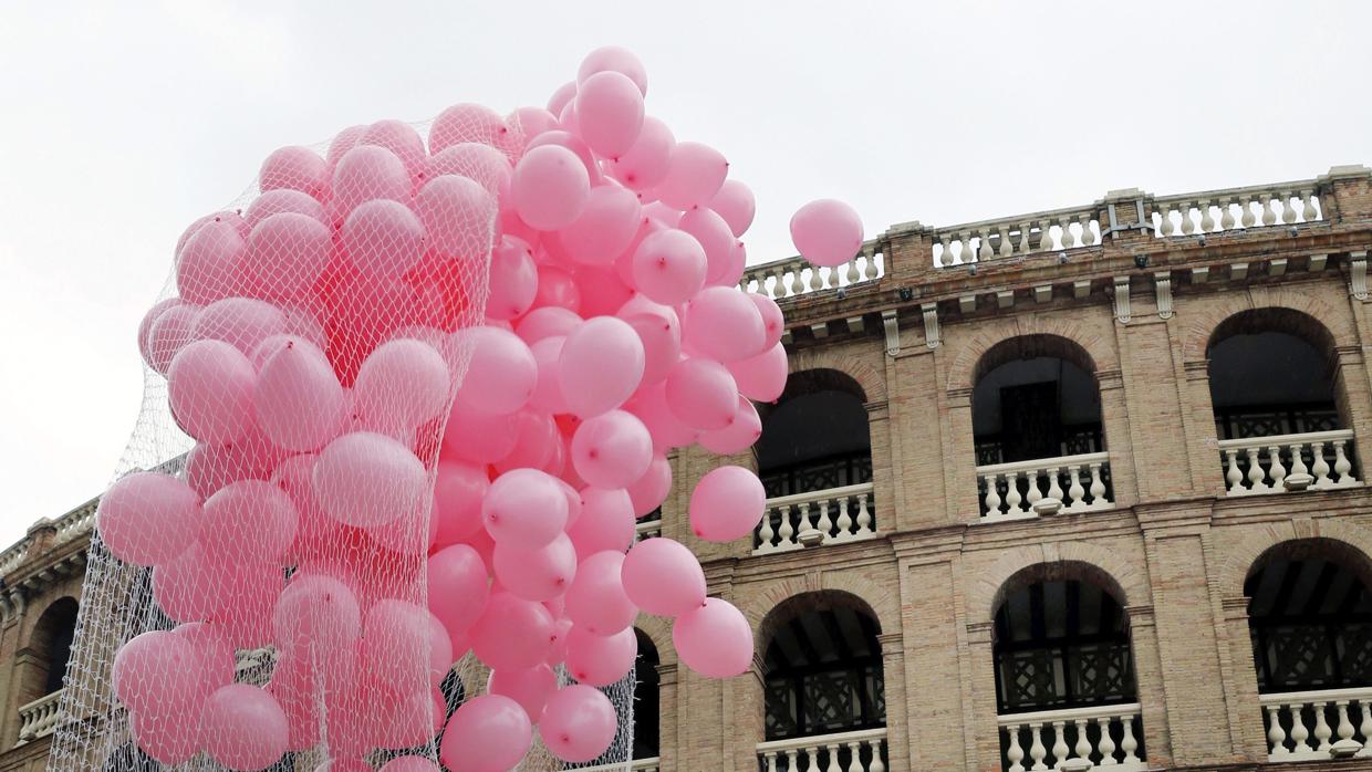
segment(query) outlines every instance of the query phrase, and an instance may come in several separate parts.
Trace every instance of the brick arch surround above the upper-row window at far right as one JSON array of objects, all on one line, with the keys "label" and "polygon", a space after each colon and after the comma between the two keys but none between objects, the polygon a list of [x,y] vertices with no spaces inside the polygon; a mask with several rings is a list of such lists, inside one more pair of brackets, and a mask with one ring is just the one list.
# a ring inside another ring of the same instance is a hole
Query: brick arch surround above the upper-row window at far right
[{"label": "brick arch surround above the upper-row window at far right", "polygon": [[[1358,337],[1347,314],[1327,303],[1313,292],[1301,292],[1287,287],[1251,287],[1247,292],[1231,292],[1214,302],[1196,303],[1196,314],[1190,318],[1184,333],[1181,357],[1184,362],[1205,362],[1214,333],[1228,319],[1244,313],[1265,309],[1284,309],[1303,317],[1303,325],[1312,330],[1324,330],[1336,347],[1358,346]],[[1292,330],[1298,332],[1299,330]],[[1318,332],[1314,333],[1318,337]],[[1309,337],[1309,336],[1308,336]],[[1312,340],[1310,343],[1320,343]]]}]

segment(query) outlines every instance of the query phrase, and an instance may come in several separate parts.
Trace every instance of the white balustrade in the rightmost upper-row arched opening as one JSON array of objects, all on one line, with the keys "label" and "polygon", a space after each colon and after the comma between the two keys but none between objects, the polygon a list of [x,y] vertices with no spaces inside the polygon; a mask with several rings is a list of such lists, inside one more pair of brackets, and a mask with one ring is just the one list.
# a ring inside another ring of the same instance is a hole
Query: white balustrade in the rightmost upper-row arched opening
[{"label": "white balustrade in the rightmost upper-row arched opening", "polygon": [[1220,440],[1227,495],[1361,485],[1349,458],[1351,448],[1351,429]]}]

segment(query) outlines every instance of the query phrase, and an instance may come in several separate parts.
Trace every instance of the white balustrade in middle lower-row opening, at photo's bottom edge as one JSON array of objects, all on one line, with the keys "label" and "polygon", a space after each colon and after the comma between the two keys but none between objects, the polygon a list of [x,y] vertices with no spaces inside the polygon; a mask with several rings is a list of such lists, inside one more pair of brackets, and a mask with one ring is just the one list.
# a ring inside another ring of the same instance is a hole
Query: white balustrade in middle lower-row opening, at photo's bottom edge
[{"label": "white balustrade in middle lower-row opening, at photo's bottom edge", "polygon": [[999,716],[1006,736],[1007,772],[1058,769],[1063,761],[1089,760],[1113,772],[1147,769],[1140,751],[1139,703],[1072,708]]}]

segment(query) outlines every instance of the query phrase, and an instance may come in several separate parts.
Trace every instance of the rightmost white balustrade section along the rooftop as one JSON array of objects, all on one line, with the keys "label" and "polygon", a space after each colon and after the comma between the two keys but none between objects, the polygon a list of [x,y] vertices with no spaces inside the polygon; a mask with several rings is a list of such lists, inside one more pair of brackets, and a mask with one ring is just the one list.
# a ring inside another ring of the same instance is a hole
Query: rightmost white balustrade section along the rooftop
[{"label": "rightmost white balustrade section along the rooftop", "polygon": [[1324,219],[1316,182],[1209,191],[1155,199],[1148,217],[1155,236],[1221,233]]}]

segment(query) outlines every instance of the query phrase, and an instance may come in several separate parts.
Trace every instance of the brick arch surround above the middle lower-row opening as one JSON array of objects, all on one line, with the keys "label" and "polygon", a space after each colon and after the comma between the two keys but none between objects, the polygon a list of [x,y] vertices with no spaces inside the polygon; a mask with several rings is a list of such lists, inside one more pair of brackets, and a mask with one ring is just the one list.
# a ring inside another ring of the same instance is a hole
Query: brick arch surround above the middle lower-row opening
[{"label": "brick arch surround above the middle lower-row opening", "polygon": [[1151,603],[1148,577],[1143,566],[1085,542],[1025,544],[1006,550],[1000,559],[982,569],[967,595],[969,618],[991,621],[1006,595],[1022,581],[1063,576],[1085,579],[1115,595],[1121,606]]}]

